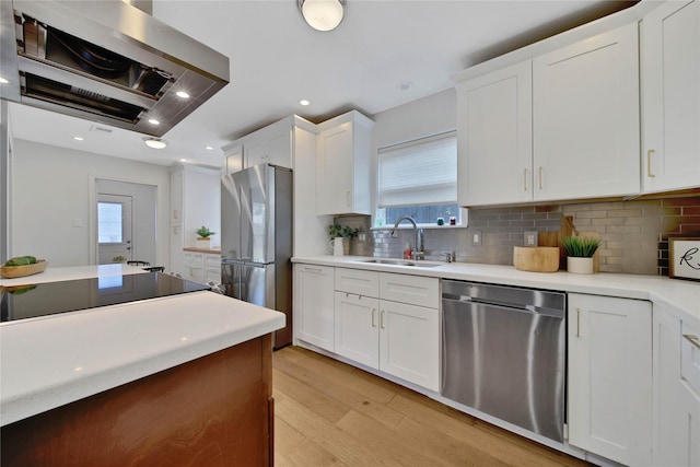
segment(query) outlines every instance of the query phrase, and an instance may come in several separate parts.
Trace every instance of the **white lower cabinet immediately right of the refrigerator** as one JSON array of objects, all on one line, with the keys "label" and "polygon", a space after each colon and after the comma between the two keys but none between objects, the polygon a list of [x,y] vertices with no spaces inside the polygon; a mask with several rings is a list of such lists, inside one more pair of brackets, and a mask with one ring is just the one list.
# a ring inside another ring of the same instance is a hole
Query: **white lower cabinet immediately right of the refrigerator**
[{"label": "white lower cabinet immediately right of the refrigerator", "polygon": [[294,336],[334,351],[334,268],[294,265]]}]

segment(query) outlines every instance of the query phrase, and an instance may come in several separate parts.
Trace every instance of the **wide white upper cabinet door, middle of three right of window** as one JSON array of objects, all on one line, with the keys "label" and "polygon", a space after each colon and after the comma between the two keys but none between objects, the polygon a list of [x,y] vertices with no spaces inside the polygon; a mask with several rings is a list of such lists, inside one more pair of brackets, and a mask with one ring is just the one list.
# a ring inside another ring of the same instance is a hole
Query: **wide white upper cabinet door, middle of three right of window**
[{"label": "wide white upper cabinet door, middle of three right of window", "polygon": [[535,200],[640,191],[638,27],[533,60]]}]

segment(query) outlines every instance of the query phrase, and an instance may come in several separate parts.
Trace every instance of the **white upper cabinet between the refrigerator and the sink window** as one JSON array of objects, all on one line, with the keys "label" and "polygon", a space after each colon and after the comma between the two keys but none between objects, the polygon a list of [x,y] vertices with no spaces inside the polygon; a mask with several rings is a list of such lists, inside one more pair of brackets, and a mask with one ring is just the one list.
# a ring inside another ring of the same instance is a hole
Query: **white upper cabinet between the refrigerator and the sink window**
[{"label": "white upper cabinet between the refrigerator and the sink window", "polygon": [[373,125],[357,110],[318,125],[318,214],[370,214]]}]

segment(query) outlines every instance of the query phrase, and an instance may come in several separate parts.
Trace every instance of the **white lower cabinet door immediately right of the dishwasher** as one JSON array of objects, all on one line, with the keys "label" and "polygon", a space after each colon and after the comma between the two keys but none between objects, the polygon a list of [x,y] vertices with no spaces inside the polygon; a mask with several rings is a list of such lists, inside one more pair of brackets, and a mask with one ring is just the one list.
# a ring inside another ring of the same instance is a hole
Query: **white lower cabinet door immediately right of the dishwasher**
[{"label": "white lower cabinet door immediately right of the dishwasher", "polygon": [[625,465],[651,465],[651,302],[568,299],[569,443]]}]

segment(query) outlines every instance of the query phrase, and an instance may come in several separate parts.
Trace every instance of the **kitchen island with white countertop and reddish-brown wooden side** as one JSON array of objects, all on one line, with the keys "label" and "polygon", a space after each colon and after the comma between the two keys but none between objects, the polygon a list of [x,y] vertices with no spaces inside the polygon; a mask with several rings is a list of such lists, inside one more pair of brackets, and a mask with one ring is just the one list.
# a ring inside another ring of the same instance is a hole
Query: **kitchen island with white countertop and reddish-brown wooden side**
[{"label": "kitchen island with white countertop and reddish-brown wooden side", "polygon": [[283,325],[209,291],[3,323],[2,465],[271,465]]}]

